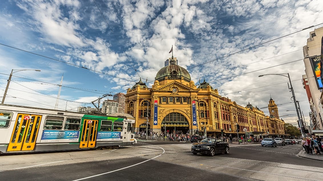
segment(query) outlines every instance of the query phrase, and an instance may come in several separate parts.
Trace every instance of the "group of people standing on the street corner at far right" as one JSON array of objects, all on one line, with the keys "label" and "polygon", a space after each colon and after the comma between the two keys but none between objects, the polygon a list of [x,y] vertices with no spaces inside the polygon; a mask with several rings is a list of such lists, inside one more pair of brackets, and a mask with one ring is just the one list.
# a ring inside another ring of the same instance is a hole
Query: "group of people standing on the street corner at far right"
[{"label": "group of people standing on the street corner at far right", "polygon": [[[306,137],[302,140],[302,146],[306,151],[306,154],[320,155],[323,153],[323,136]],[[314,151],[314,153],[313,153]]]}]

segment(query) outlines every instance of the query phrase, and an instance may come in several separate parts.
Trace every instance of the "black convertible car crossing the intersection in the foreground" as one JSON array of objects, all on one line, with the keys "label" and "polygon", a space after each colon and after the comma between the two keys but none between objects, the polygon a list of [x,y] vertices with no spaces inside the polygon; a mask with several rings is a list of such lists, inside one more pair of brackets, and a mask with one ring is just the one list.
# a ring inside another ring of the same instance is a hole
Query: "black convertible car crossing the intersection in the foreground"
[{"label": "black convertible car crossing the intersection in the foreground", "polygon": [[229,154],[229,143],[214,138],[205,138],[198,143],[194,143],[191,150],[194,155],[198,153],[210,156],[214,156],[215,153]]}]

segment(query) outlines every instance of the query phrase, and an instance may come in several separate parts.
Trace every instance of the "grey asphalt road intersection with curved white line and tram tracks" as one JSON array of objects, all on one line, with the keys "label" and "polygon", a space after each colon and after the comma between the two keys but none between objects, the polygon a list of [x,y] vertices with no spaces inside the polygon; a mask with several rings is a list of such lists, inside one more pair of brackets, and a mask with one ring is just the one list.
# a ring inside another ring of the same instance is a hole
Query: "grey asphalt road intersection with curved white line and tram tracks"
[{"label": "grey asphalt road intersection with curved white line and tram tracks", "polygon": [[0,157],[1,180],[321,180],[322,161],[300,145],[230,145],[230,154],[193,155],[191,143],[138,140],[104,150]]}]

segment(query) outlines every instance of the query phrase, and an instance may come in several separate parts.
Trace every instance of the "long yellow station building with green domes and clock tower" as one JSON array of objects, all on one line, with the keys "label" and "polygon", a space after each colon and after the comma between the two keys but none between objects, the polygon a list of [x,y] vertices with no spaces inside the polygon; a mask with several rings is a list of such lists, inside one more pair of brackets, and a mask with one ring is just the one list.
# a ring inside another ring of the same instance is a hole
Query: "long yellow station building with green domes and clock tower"
[{"label": "long yellow station building with green domes and clock tower", "polygon": [[[209,83],[195,86],[185,68],[176,65],[176,58],[161,68],[154,84],[148,88],[141,80],[125,95],[125,113],[136,119],[135,131],[182,131],[183,133],[228,136],[248,133],[256,137],[284,135],[284,121],[279,119],[275,101],[270,98],[270,116],[248,103],[245,107],[219,95]],[[244,132],[244,128],[246,131]]]}]

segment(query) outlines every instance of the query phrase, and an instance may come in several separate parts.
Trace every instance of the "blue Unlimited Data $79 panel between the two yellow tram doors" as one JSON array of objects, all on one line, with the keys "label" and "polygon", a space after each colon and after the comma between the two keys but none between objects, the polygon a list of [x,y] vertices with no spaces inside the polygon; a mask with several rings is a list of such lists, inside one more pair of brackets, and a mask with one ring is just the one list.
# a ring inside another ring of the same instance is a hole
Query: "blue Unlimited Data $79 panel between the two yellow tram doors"
[{"label": "blue Unlimited Data $79 panel between the two yellow tram doors", "polygon": [[79,131],[44,130],[41,140],[76,139]]}]

